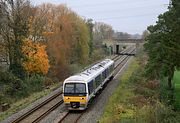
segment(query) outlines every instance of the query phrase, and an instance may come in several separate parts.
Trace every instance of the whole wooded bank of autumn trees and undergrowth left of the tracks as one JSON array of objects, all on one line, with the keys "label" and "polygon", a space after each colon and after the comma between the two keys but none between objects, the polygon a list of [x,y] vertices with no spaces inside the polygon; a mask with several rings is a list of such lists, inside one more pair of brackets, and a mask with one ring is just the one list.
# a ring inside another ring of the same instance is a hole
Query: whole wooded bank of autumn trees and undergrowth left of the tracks
[{"label": "whole wooded bank of autumn trees and undergrowth left of the tracks", "polygon": [[30,97],[32,102],[42,97],[52,85],[59,86],[109,54],[99,42],[112,37],[112,27],[83,19],[63,4],[34,6],[30,0],[1,0],[0,18],[1,120],[24,107],[23,99]]}]

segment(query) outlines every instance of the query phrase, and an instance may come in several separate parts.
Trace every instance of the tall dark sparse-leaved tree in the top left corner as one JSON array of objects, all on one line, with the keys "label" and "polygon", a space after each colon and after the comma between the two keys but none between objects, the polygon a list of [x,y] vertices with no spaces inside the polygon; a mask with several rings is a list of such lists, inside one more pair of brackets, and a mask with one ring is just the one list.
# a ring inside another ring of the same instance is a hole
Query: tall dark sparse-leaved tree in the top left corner
[{"label": "tall dark sparse-leaved tree in the top left corner", "polygon": [[30,2],[28,0],[0,1],[0,35],[9,56],[9,70],[23,76],[22,42],[28,37]]}]

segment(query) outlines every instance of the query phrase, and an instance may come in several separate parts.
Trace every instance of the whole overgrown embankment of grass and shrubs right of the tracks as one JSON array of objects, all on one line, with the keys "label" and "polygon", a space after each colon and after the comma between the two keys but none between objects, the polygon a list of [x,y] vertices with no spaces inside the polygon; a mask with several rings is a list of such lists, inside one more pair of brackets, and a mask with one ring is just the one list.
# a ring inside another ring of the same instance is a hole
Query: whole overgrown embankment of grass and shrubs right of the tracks
[{"label": "whole overgrown embankment of grass and shrubs right of the tracks", "polygon": [[143,57],[135,58],[119,78],[121,84],[110,97],[100,123],[180,122],[180,112],[174,110],[173,93],[167,90],[166,82],[144,77]]}]

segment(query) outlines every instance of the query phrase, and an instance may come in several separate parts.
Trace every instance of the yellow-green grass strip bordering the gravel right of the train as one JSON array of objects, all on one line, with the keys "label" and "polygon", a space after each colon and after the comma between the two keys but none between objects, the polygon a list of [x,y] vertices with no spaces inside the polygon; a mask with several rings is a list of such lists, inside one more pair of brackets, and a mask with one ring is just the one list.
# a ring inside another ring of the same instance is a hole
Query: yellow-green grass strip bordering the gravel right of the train
[{"label": "yellow-green grass strip bordering the gravel right of the train", "polygon": [[130,85],[127,84],[133,71],[135,71],[137,68],[137,62],[133,61],[128,70],[122,75],[120,80],[121,84],[110,98],[108,105],[105,108],[104,115],[100,119],[101,123],[111,123],[112,121],[119,121],[122,117],[131,118],[134,116],[134,105],[131,103],[127,104],[127,102],[134,97],[134,93],[132,88],[129,87]]}]

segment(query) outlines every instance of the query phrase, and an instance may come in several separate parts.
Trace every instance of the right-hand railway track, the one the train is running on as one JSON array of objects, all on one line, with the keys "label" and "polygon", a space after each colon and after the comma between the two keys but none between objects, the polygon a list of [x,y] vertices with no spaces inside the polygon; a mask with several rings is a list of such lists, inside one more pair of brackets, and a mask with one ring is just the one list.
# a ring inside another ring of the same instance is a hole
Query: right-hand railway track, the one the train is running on
[{"label": "right-hand railway track, the one the train is running on", "polygon": [[[133,53],[135,51],[135,48],[130,49],[128,51],[128,53]],[[116,56],[114,57],[115,59],[117,58]],[[122,56],[122,57],[118,57],[120,59],[120,61],[116,60],[115,63],[115,75],[118,74],[119,70],[126,64],[126,62],[128,61],[128,59],[130,58],[130,56]],[[111,80],[110,80],[111,81]],[[109,82],[107,82],[108,84]],[[100,93],[97,95],[99,96]],[[97,98],[96,96],[96,98]],[[60,119],[58,121],[58,123],[77,123],[79,121],[79,119],[83,116],[83,114],[85,113],[85,111],[83,112],[67,112],[66,115],[64,115],[64,117],[62,119]]]}]

